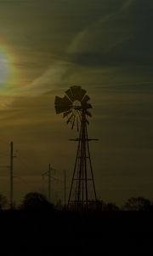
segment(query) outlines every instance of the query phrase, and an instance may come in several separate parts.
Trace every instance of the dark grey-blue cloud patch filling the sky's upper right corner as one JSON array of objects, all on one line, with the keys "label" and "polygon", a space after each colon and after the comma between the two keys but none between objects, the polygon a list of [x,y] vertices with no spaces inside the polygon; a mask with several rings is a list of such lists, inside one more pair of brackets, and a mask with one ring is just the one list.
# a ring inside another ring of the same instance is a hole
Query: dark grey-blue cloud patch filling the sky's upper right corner
[{"label": "dark grey-blue cloud patch filling the sky's upper right corner", "polygon": [[145,5],[142,1],[127,3],[130,8],[120,9],[122,11],[95,22],[77,35],[69,50],[77,64],[91,67],[152,65],[153,6],[150,1]]}]

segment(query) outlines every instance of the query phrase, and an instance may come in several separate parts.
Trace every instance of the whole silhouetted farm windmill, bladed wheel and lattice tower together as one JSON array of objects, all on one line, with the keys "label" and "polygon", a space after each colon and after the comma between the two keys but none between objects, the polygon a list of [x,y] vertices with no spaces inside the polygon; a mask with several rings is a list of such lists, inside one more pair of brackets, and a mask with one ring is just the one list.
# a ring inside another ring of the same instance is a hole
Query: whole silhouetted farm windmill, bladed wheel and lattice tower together
[{"label": "whole silhouetted farm windmill, bladed wheel and lattice tower together", "polygon": [[63,113],[63,117],[67,119],[67,125],[70,124],[71,129],[77,127],[77,131],[79,131],[79,137],[71,139],[76,141],[78,145],[68,207],[75,207],[75,209],[88,208],[91,203],[95,204],[97,201],[89,151],[89,141],[96,139],[88,138],[87,129],[88,118],[92,117],[89,112],[89,109],[92,108],[91,104],[88,103],[89,100],[87,91],[83,90],[81,86],[71,86],[65,91],[63,98],[56,96],[54,102],[56,113]]}]

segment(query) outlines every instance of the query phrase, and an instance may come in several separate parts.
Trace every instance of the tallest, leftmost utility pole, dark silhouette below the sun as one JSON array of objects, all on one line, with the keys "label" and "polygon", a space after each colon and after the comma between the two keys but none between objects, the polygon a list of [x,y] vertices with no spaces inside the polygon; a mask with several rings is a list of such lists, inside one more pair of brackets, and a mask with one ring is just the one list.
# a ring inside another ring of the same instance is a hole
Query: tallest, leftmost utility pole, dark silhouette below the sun
[{"label": "tallest, leftmost utility pole, dark silhouette below the sun", "polygon": [[14,143],[10,143],[10,209],[14,208]]}]

